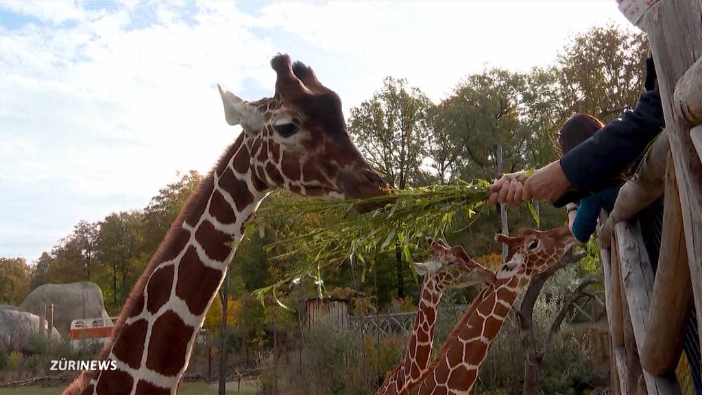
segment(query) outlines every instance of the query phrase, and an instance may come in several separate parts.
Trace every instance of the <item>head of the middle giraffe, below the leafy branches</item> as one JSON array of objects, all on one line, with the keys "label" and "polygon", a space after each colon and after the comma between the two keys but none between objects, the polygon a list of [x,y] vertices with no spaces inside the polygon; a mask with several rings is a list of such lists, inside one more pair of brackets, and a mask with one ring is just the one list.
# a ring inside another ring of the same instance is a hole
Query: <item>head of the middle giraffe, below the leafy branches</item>
[{"label": "head of the middle giraffe, below the leafy branches", "polygon": [[480,281],[495,283],[495,273],[468,257],[461,245],[449,247],[444,240],[428,241],[435,259],[415,264],[420,276],[435,276],[442,289],[468,287]]}]

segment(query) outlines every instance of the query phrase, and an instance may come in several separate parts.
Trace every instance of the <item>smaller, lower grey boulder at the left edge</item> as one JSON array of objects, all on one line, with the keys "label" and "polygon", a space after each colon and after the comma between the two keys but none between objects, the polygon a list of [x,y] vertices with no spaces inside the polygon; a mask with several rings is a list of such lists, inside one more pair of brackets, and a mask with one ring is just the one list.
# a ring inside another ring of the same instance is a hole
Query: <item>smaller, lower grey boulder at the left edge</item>
[{"label": "smaller, lower grey boulder at the left edge", "polygon": [[[10,350],[32,352],[32,337],[46,337],[47,323],[44,323],[44,330],[41,331],[39,316],[35,316],[27,311],[16,311],[11,309],[0,310],[0,344],[4,344]],[[61,335],[56,328],[52,332],[53,342],[58,344],[62,341]]]}]

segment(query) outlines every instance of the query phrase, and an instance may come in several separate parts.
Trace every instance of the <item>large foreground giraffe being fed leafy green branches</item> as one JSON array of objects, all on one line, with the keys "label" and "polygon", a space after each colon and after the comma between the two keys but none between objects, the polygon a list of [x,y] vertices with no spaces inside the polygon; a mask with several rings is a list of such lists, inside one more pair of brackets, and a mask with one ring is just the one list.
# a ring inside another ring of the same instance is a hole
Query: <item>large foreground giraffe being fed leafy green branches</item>
[{"label": "large foreground giraffe being fed leafy green branches", "polygon": [[133,288],[99,356],[117,369],[86,370],[64,394],[176,394],[246,221],[274,188],[320,199],[390,193],[350,140],[339,96],[287,55],[271,67],[273,98],[243,101],[218,85],[227,123],[243,131]]}]

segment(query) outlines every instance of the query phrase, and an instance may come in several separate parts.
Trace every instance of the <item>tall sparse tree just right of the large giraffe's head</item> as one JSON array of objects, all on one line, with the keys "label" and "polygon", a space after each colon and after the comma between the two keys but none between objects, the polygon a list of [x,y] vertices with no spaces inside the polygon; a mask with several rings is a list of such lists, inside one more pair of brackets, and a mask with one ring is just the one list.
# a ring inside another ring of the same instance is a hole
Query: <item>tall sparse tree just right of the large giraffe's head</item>
[{"label": "tall sparse tree just right of the large giraffe's head", "polygon": [[[383,174],[392,188],[412,185],[423,160],[429,98],[406,79],[386,77],[383,89],[351,109],[349,131],[364,156]],[[397,296],[404,297],[402,252],[395,248]]]}]

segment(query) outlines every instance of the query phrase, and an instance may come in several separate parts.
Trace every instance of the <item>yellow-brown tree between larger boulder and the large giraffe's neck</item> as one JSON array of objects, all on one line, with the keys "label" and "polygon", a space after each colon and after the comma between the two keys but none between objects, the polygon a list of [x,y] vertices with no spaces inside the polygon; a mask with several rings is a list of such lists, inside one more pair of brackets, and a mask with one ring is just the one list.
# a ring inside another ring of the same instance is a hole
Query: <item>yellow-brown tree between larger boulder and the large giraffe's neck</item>
[{"label": "yellow-brown tree between larger boulder and the large giraffe's neck", "polygon": [[112,277],[114,306],[124,303],[131,289],[128,278],[142,240],[140,234],[142,217],[143,215],[138,211],[119,212],[110,214],[100,222],[97,237],[98,257]]}]

